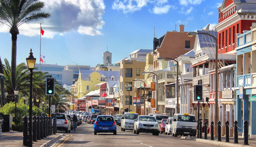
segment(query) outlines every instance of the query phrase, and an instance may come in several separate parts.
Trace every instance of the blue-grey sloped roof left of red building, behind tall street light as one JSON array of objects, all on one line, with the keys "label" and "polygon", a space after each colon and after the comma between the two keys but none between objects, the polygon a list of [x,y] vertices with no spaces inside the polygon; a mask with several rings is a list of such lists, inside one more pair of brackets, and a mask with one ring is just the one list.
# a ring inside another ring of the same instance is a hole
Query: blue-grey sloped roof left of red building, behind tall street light
[{"label": "blue-grey sloped roof left of red building, behind tall street light", "polygon": [[[214,37],[218,38],[218,32],[217,31],[205,31],[205,30],[199,30],[198,33],[208,33],[213,35]],[[209,35],[205,34],[198,34],[198,39],[200,43],[201,48],[210,47],[215,48],[215,39]]]}]

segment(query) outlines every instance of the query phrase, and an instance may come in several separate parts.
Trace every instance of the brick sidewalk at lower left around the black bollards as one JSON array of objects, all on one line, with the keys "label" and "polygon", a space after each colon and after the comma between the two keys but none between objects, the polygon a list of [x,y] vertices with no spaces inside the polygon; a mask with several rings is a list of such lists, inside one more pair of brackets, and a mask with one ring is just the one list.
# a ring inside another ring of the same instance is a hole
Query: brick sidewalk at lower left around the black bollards
[{"label": "brick sidewalk at lower left around the black bollards", "polygon": [[[55,140],[61,138],[63,134],[56,133],[56,135],[50,135],[44,139],[33,142],[33,147],[47,147]],[[21,147],[23,144],[23,132],[2,132],[0,136],[1,147]]]}]

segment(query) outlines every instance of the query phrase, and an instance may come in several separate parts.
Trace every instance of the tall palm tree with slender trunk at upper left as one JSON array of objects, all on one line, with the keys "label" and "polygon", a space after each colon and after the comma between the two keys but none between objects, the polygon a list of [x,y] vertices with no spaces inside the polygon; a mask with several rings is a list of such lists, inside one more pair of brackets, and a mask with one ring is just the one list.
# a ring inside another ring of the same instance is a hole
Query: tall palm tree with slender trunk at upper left
[{"label": "tall palm tree with slender trunk at upper left", "polygon": [[50,14],[41,12],[44,2],[39,0],[0,0],[0,23],[10,27],[12,39],[11,85],[16,87],[16,49],[18,27],[23,23],[49,18]]}]

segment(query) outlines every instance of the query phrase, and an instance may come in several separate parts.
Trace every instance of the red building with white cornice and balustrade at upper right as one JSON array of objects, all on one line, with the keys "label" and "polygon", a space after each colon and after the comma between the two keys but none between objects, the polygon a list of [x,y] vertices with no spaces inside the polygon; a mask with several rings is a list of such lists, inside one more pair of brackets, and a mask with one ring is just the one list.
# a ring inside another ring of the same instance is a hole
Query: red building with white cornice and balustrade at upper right
[{"label": "red building with white cornice and balustrade at upper right", "polygon": [[[218,45],[221,53],[234,51],[236,48],[236,34],[250,30],[255,18],[255,0],[224,0],[219,10],[219,23],[215,26],[218,31]],[[253,8],[254,7],[254,8]],[[250,11],[252,10],[252,11]],[[254,12],[253,12],[254,10]]]}]

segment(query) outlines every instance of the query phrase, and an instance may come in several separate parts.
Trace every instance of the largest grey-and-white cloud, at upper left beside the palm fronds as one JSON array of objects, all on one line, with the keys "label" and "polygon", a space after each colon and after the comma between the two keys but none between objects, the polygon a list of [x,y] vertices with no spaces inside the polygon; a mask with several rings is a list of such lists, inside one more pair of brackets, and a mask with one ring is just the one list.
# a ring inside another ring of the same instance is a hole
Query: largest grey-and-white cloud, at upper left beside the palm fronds
[{"label": "largest grey-and-white cloud, at upper left beside the palm fronds", "polygon": [[[53,38],[71,31],[80,34],[101,35],[100,29],[104,25],[102,15],[105,6],[103,0],[41,0],[45,2],[43,12],[51,17],[38,22],[23,24],[19,27],[21,35],[40,35],[40,22],[45,31],[42,37]],[[0,27],[0,32],[9,32],[6,26]]]}]

